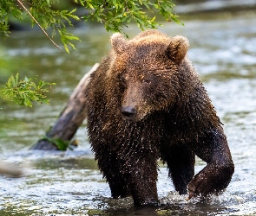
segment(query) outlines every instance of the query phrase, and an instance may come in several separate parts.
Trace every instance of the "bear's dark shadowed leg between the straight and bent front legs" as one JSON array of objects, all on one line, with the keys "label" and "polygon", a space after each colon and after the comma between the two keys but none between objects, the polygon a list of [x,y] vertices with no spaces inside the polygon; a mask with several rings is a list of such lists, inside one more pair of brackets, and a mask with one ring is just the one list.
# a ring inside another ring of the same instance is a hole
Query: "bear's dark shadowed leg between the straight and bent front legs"
[{"label": "bear's dark shadowed leg between the straight and bent front legs", "polygon": [[179,194],[187,194],[187,184],[194,177],[194,152],[184,144],[173,144],[161,155],[163,161],[167,162],[175,190]]}]

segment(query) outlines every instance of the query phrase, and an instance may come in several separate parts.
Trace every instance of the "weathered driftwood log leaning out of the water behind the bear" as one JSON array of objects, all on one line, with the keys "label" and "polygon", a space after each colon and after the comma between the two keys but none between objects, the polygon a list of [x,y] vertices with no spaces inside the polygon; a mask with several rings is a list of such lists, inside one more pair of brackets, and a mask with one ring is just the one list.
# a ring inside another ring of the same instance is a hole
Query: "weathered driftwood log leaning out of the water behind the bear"
[{"label": "weathered driftwood log leaning out of the water behind the bear", "polygon": [[56,124],[46,133],[45,138],[38,140],[31,149],[57,150],[59,148],[56,144],[50,142],[50,140],[58,139],[69,142],[75,136],[76,130],[81,126],[84,118],[87,117],[86,101],[84,98],[85,88],[89,84],[90,74],[93,73],[98,66],[99,64],[96,63],[94,67],[83,76],[79,84],[75,87],[74,92],[69,98],[68,105],[63,109]]}]

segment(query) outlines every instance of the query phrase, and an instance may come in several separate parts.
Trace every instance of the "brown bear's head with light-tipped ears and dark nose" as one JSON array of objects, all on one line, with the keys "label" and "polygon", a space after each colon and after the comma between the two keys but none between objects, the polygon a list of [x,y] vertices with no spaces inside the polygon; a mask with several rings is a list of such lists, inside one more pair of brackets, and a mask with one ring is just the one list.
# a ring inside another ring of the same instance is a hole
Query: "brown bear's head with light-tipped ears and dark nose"
[{"label": "brown bear's head with light-tipped ears and dark nose", "polygon": [[119,86],[123,118],[140,121],[174,105],[181,90],[179,67],[188,48],[185,37],[149,30],[129,41],[115,33],[111,43],[114,60],[108,76]]}]

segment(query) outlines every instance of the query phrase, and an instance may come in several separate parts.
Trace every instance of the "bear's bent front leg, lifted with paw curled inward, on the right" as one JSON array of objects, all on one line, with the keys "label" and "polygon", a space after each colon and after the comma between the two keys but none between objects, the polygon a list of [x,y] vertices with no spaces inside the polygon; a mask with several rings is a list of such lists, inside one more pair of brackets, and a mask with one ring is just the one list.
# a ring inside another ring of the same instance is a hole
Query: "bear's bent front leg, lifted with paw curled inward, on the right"
[{"label": "bear's bent front leg, lifted with paw curled inward, on the right", "polygon": [[212,130],[191,146],[194,153],[207,162],[207,166],[188,184],[188,199],[196,195],[220,194],[231,181],[234,172],[232,156],[223,130]]}]

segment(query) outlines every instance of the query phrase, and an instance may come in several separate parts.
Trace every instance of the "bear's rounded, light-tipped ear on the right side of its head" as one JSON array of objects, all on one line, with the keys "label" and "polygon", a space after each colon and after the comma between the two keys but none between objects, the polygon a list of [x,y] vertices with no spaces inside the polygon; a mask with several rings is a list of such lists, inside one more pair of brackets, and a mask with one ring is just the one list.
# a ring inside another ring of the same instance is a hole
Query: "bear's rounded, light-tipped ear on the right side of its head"
[{"label": "bear's rounded, light-tipped ear on the right side of its head", "polygon": [[171,42],[167,48],[167,56],[176,64],[180,64],[181,60],[185,58],[189,42],[186,37],[177,35],[171,38]]}]

